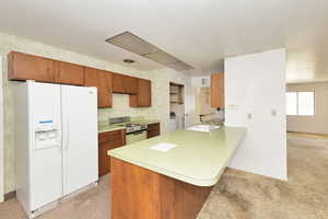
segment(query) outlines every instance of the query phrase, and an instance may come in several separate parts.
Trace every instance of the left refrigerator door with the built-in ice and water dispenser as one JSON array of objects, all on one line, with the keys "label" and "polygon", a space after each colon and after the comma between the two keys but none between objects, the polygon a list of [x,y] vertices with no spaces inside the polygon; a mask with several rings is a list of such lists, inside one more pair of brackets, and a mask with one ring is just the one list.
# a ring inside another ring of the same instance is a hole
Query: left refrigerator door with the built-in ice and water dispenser
[{"label": "left refrigerator door with the built-in ice and water dispenser", "polygon": [[62,195],[60,85],[27,82],[31,211]]}]

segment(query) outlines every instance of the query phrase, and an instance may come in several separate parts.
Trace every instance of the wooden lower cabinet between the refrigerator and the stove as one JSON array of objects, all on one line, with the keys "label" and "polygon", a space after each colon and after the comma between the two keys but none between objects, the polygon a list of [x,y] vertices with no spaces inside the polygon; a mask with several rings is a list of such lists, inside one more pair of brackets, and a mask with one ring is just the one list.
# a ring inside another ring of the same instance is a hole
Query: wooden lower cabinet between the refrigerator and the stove
[{"label": "wooden lower cabinet between the refrigerator and the stove", "polygon": [[125,130],[102,132],[98,135],[98,174],[99,176],[110,172],[110,158],[107,151],[126,145]]}]

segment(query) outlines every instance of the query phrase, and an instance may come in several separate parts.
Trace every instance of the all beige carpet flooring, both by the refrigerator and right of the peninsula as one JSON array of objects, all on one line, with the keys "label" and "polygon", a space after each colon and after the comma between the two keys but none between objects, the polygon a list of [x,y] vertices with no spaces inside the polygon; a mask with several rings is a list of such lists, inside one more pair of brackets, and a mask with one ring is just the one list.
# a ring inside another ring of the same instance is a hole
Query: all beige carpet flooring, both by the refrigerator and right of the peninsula
[{"label": "all beige carpet flooring, both by the refrigerator and right of the peninsula", "polygon": [[[328,140],[302,139],[289,138],[288,182],[227,170],[198,219],[328,219]],[[108,219],[108,196],[106,176],[39,218]],[[21,218],[15,199],[0,204],[0,219]]]}]

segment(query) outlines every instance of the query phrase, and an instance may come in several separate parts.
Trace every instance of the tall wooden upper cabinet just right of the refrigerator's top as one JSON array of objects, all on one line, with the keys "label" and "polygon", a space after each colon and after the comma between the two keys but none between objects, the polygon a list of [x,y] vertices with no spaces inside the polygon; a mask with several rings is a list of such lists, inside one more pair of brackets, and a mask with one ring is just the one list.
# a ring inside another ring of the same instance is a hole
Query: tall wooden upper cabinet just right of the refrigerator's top
[{"label": "tall wooden upper cabinet just right of the refrigerator's top", "polygon": [[113,76],[110,72],[85,68],[84,85],[97,88],[99,108],[112,107]]}]

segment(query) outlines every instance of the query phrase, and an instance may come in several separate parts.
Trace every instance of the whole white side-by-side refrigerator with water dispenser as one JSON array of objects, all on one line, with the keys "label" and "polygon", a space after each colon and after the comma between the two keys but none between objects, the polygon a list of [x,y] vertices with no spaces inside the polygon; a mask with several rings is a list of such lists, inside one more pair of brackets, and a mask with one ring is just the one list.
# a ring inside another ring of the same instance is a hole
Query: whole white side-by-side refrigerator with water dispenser
[{"label": "whole white side-by-side refrigerator with water dispenser", "polygon": [[14,89],[16,197],[28,218],[98,180],[96,88]]}]

